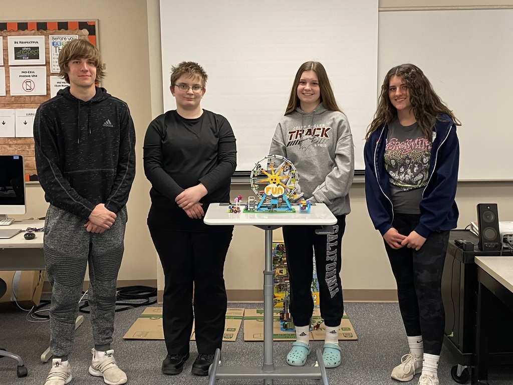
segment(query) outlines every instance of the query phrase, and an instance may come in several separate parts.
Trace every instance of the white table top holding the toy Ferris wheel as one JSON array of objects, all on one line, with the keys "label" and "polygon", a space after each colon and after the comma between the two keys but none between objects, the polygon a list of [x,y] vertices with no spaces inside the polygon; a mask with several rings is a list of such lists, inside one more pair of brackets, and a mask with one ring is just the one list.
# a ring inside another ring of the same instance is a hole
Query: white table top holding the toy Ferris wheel
[{"label": "white table top holding the toy Ferris wheel", "polygon": [[209,225],[332,225],[337,218],[324,203],[315,203],[310,207],[310,213],[299,213],[299,206],[293,206],[295,213],[229,213],[228,206],[211,203],[203,221]]}]

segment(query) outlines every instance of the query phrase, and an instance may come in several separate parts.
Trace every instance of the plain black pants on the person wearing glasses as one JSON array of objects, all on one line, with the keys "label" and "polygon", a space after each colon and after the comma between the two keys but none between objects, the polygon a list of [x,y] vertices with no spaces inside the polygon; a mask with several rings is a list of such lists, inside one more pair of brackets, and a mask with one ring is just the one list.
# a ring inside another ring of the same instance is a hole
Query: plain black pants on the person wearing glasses
[{"label": "plain black pants on the person wearing glasses", "polygon": [[233,229],[208,233],[149,229],[164,269],[162,323],[168,354],[189,352],[193,321],[198,353],[213,354],[223,343],[227,307],[223,269]]}]

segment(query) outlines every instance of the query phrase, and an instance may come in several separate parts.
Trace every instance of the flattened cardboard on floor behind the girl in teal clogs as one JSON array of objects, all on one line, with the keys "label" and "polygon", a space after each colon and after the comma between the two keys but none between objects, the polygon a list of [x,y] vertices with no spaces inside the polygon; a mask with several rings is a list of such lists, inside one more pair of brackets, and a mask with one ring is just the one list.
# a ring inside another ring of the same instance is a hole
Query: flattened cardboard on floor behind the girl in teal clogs
[{"label": "flattened cardboard on floor behind the girl in teal clogs", "polygon": [[[280,310],[274,309],[273,315],[273,339],[274,341],[295,341],[295,332],[285,332],[281,330]],[[313,309],[313,323],[322,321],[321,311],[318,307]],[[357,340],[358,337],[349,321],[349,317],[344,312],[344,317],[340,323],[339,340]],[[264,310],[246,309],[244,313],[244,341],[263,341],[264,340]],[[324,321],[319,329],[310,332],[310,341],[324,340]]]}]

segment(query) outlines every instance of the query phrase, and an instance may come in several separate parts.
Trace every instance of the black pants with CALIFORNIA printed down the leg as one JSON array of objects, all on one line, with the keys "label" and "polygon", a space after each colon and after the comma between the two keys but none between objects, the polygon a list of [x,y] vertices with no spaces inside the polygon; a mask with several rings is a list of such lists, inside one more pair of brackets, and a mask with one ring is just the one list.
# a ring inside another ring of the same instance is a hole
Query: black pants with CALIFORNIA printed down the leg
[{"label": "black pants with CALIFORNIA printed down the leg", "polygon": [[344,315],[340,281],[342,236],[346,216],[337,216],[334,235],[317,235],[319,226],[283,226],[290,281],[290,314],[296,326],[310,324],[313,312],[311,294],[313,250],[319,280],[321,317],[326,326],[340,325]]}]

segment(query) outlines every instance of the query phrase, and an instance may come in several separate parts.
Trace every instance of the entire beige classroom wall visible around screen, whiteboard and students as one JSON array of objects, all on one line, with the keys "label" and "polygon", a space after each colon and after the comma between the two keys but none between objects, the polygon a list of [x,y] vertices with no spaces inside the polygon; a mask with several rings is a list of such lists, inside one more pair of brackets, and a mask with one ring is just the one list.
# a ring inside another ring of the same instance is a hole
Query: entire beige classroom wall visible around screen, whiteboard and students
[{"label": "entire beige classroom wall visible around screen, whiteboard and students", "polygon": [[[380,0],[379,6],[380,10],[384,11],[406,6],[479,7],[489,6],[489,3],[491,2],[485,0]],[[494,1],[493,5],[513,7],[513,2]],[[80,3],[64,0],[18,0],[15,3],[0,0],[0,9],[4,20],[23,20],[26,15],[22,12],[23,9],[31,9],[32,14],[41,20],[98,19],[98,42],[108,73],[102,85],[128,103],[136,129],[137,170],[128,201],[129,222],[119,283],[155,285],[158,282],[158,288],[162,291],[162,269],[146,226],[150,186],[144,177],[142,167],[142,144],[146,127],[151,119],[163,112],[159,0],[90,0],[87,9]],[[184,57],[184,60],[187,58]],[[458,111],[455,113],[458,115]],[[464,126],[460,129],[464,129]],[[253,194],[247,185],[236,184],[232,186],[232,197],[238,195],[247,197]],[[394,300],[397,298],[396,285],[384,252],[382,238],[373,229],[367,214],[363,182],[355,182],[349,195],[352,211],[347,217],[341,274],[345,299]],[[460,208],[459,228],[464,228],[470,221],[476,220],[477,203],[498,203],[499,219],[513,220],[511,196],[513,181],[461,182],[457,193]],[[28,212],[22,217],[44,216],[47,204],[40,185],[29,184],[27,197]],[[276,230],[275,238],[280,237],[280,230]],[[225,280],[230,299],[262,298],[263,230],[252,226],[236,227],[225,266]]]}]

